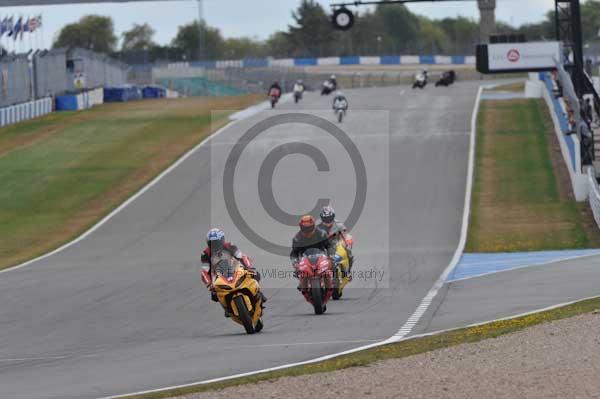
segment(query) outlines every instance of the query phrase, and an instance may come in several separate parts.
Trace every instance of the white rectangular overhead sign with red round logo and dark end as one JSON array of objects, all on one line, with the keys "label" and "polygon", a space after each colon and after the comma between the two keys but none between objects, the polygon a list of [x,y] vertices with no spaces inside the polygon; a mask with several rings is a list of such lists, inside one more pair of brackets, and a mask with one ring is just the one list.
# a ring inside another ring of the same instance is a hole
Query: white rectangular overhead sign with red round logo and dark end
[{"label": "white rectangular overhead sign with red round logo and dark end", "polygon": [[482,73],[547,71],[561,59],[559,42],[498,43],[477,46]]}]

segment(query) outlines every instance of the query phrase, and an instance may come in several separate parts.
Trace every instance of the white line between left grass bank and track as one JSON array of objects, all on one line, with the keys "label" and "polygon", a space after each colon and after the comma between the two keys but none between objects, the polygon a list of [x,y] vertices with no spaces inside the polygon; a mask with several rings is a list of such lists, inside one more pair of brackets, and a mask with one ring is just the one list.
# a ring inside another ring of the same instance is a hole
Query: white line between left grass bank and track
[{"label": "white line between left grass bank and track", "polygon": [[209,140],[216,138],[218,135],[223,133],[226,129],[231,128],[232,126],[234,126],[235,124],[237,124],[238,122],[240,122],[242,120],[244,120],[244,119],[230,120],[227,124],[225,124],[225,126],[221,127],[219,130],[217,130],[213,134],[206,137],[204,140],[202,140],[200,143],[198,143],[194,148],[188,150],[179,159],[177,159],[173,164],[171,164],[167,169],[163,170],[158,176],[156,176],[149,183],[147,183],[145,186],[143,186],[138,192],[133,194],[133,196],[129,197],[121,205],[119,205],[117,208],[113,209],[108,215],[103,217],[99,222],[97,222],[95,225],[90,227],[89,230],[87,230],[86,232],[81,234],[79,237],[75,238],[74,240],[72,240],[66,244],[63,244],[62,246],[60,246],[48,253],[45,253],[44,255],[38,256],[37,258],[30,259],[21,264],[10,266],[4,270],[0,270],[0,274],[8,273],[8,272],[15,271],[18,269],[22,269],[25,266],[29,266],[33,263],[39,262],[43,259],[46,259],[46,258],[52,256],[52,255],[56,255],[57,253],[62,252],[65,249],[68,249],[69,247],[72,247],[73,245],[82,241],[83,239],[88,237],[90,234],[92,234],[93,232],[98,230],[100,227],[102,227],[104,224],[106,224],[110,219],[112,219],[116,214],[118,214],[123,209],[125,209],[129,204],[131,204],[133,201],[138,199],[142,194],[144,194],[146,191],[148,191],[150,188],[152,188],[154,185],[156,185],[166,175],[168,175],[171,171],[173,171],[175,168],[177,168],[179,165],[181,165],[184,161],[186,161],[190,156],[192,156],[196,151],[198,151],[198,149],[200,149],[200,147],[204,146]]}]

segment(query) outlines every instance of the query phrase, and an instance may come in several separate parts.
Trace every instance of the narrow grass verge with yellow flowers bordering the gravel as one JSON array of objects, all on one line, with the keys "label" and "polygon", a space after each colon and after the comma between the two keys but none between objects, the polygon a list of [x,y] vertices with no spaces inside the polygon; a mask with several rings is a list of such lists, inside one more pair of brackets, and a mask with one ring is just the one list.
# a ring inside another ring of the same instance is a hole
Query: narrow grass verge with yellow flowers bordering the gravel
[{"label": "narrow grass verge with yellow flowers bordering the gravel", "polygon": [[409,339],[397,344],[389,344],[350,355],[340,356],[323,362],[296,366],[278,371],[236,378],[223,382],[204,385],[193,385],[186,388],[173,389],[164,392],[130,395],[128,399],[161,399],[186,395],[196,392],[214,391],[242,384],[254,384],[261,381],[275,380],[281,377],[294,377],[315,373],[325,373],[349,367],[362,367],[388,359],[400,359],[420,353],[450,346],[478,342],[496,338],[501,335],[523,330],[538,324],[561,320],[584,313],[590,313],[600,308],[600,298],[584,300],[557,309],[534,313],[514,319],[501,320],[475,327],[452,330],[436,335]]}]

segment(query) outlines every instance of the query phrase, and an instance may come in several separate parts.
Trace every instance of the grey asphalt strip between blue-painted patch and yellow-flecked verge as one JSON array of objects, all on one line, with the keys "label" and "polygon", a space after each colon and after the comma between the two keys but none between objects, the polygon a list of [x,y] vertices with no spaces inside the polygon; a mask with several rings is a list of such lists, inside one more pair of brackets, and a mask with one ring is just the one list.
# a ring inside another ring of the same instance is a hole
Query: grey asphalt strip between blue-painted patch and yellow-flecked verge
[{"label": "grey asphalt strip between blue-painted patch and yellow-flecked verge", "polygon": [[413,333],[463,327],[600,295],[600,256],[450,281]]}]

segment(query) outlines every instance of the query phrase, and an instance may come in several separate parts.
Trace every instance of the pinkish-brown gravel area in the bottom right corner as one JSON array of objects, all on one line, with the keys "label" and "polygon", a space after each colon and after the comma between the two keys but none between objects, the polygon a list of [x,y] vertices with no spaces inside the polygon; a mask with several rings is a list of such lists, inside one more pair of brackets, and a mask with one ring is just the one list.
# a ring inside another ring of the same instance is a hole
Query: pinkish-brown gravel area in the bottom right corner
[{"label": "pinkish-brown gravel area in the bottom right corner", "polygon": [[600,314],[369,367],[285,377],[201,398],[600,398]]}]

